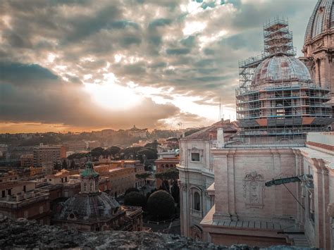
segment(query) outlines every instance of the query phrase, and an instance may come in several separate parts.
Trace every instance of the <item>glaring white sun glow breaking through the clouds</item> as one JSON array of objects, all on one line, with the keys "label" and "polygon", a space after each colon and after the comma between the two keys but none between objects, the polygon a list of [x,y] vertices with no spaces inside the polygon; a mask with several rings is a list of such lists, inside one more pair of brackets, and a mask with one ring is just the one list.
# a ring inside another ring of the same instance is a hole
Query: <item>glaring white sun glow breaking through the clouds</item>
[{"label": "glaring white sun glow breaking through the clouds", "polygon": [[102,108],[125,110],[132,108],[142,100],[130,87],[118,85],[115,75],[104,74],[101,83],[85,83],[87,92],[92,95],[94,101]]}]

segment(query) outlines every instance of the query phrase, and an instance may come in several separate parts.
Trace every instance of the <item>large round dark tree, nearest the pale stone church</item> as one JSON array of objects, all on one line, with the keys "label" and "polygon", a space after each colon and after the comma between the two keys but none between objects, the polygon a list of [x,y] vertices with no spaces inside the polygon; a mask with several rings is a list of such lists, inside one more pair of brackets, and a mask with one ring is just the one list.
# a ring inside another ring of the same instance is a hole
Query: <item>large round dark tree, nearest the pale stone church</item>
[{"label": "large round dark tree, nearest the pale stone church", "polygon": [[175,213],[175,202],[173,196],[168,192],[159,190],[149,196],[147,210],[155,218],[171,218]]}]

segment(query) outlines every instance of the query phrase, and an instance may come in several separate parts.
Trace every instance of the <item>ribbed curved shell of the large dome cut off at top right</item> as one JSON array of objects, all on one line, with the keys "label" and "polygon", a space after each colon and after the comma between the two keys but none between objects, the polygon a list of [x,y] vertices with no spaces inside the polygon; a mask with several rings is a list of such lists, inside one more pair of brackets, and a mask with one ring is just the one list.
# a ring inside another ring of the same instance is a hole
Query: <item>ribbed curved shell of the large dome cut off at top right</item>
[{"label": "ribbed curved shell of the large dome cut off at top right", "polygon": [[309,18],[309,24],[305,33],[305,44],[323,32],[334,30],[333,4],[333,0],[318,0],[311,18]]}]

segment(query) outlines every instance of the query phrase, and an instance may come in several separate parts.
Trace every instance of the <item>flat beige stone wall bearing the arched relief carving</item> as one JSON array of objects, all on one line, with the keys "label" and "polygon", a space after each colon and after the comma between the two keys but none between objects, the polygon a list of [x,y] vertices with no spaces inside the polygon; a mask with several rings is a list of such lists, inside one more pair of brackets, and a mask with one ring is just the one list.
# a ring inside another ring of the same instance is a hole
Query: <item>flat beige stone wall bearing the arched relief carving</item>
[{"label": "flat beige stone wall bearing the arched relief carving", "polygon": [[[295,175],[292,149],[216,149],[213,154],[216,218],[295,218],[295,200],[287,189],[264,186],[273,178]],[[295,184],[286,187],[296,194]]]}]

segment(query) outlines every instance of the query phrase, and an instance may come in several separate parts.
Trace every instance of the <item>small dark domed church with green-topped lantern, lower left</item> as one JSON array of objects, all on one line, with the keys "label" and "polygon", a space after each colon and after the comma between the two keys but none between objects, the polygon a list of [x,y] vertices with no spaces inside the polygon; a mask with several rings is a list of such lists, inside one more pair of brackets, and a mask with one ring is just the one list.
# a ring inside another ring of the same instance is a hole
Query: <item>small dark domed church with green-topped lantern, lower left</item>
[{"label": "small dark domed church with green-topped lantern, lower left", "polygon": [[[99,173],[89,160],[80,173],[80,194],[59,204],[53,223],[83,231],[141,230],[142,208],[120,206],[111,196],[99,191]],[[135,224],[134,224],[135,223]]]}]

